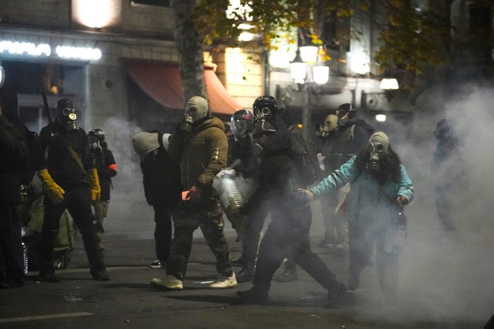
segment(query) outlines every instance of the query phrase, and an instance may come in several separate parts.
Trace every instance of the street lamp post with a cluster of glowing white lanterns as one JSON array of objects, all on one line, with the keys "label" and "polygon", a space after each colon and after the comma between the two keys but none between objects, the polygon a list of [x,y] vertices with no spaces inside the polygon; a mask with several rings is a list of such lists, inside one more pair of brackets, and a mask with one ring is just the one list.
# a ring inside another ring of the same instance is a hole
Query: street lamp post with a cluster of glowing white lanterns
[{"label": "street lamp post with a cluster of glowing white lanterns", "polygon": [[313,82],[324,85],[330,76],[330,68],[318,56],[317,46],[301,46],[297,49],[294,61],[290,63],[291,77],[304,91],[302,105],[303,139],[311,138],[311,94]]}]

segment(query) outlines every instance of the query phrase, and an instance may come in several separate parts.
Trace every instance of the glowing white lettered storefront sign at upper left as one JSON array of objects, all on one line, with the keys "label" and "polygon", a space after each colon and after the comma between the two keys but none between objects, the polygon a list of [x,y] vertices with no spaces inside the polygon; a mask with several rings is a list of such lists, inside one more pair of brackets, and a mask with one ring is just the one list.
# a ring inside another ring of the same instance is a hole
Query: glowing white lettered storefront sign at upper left
[{"label": "glowing white lettered storefront sign at upper left", "polygon": [[[30,57],[49,57],[52,47],[49,44],[35,44],[32,42],[0,41],[0,54],[11,54]],[[100,49],[75,46],[56,46],[55,54],[59,58],[76,61],[97,61],[101,58]]]}]

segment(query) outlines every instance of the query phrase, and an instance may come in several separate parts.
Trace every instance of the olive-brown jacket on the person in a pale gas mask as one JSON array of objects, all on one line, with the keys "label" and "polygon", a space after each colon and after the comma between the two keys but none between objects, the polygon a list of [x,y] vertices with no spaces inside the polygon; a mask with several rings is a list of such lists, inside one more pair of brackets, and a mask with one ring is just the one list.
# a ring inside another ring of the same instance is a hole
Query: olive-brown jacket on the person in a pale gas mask
[{"label": "olive-brown jacket on the person in a pale gas mask", "polygon": [[[180,145],[181,144],[181,145]],[[212,117],[193,127],[183,141],[171,139],[170,148],[181,149],[181,184],[183,190],[193,185],[206,194],[212,192],[212,180],[227,166],[228,139],[219,118]]]}]

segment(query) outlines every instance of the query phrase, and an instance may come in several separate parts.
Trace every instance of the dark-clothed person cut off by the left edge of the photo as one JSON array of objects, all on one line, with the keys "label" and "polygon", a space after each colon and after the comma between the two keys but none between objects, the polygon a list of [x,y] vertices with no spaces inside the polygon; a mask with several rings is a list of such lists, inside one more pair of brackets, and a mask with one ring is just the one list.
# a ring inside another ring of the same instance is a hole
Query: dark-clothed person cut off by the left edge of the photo
[{"label": "dark-clothed person cut off by the left edge of the photo", "polygon": [[[14,97],[15,96],[15,97]],[[17,96],[0,89],[0,289],[23,287],[24,264],[20,221],[20,175],[28,167],[25,138],[11,119],[17,113]]]}]

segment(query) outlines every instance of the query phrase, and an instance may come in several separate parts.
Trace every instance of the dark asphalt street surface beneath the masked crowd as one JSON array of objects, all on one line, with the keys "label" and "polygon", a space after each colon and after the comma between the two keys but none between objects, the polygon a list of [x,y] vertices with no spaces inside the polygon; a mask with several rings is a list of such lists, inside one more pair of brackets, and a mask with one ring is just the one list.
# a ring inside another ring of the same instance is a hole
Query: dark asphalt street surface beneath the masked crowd
[{"label": "dark asphalt street surface beneath the masked crowd", "polygon": [[[227,224],[228,225],[228,224]],[[239,243],[227,230],[234,257]],[[145,236],[147,238],[144,238]],[[104,243],[109,282],[90,279],[82,242],[78,238],[73,261],[59,271],[61,283],[40,283],[29,273],[25,287],[0,290],[0,328],[481,328],[483,323],[404,323],[402,311],[382,306],[374,271],[366,271],[362,288],[348,293],[342,306],[325,308],[326,293],[306,273],[296,283],[273,282],[268,306],[242,305],[236,291],[208,290],[216,276],[215,261],[207,245],[195,238],[185,290],[165,292],[150,286],[151,278],[163,275],[148,268],[154,260],[152,232],[107,235]],[[320,237],[315,236],[313,242]],[[347,257],[315,251],[346,281]],[[282,271],[280,268],[279,271]],[[394,314],[396,313],[396,314]]]}]

